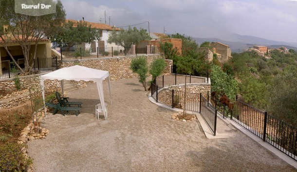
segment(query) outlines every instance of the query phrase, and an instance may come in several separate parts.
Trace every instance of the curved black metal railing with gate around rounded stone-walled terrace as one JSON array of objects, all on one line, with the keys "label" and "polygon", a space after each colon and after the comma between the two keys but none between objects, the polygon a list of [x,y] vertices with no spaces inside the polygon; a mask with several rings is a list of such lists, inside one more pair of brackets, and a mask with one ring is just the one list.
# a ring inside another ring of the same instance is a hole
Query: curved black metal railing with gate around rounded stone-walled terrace
[{"label": "curved black metal railing with gate around rounded stone-walled terrace", "polygon": [[[210,129],[216,134],[217,109],[212,106],[201,93],[190,93],[177,91],[165,86],[173,86],[188,83],[207,83],[208,79],[197,76],[187,76],[181,74],[163,75],[156,78],[150,85],[151,97],[159,103],[172,108],[186,109],[194,112],[200,112]],[[183,82],[184,81],[184,82]],[[161,86],[158,86],[160,84]],[[186,94],[186,96],[185,96]],[[185,99],[186,97],[186,99]]]}]

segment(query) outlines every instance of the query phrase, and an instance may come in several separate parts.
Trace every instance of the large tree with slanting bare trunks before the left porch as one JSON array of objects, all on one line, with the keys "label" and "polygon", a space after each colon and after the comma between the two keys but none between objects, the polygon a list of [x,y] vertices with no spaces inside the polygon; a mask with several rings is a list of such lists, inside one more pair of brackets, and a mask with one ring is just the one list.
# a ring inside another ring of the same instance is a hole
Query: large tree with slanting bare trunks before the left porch
[{"label": "large tree with slanting bare trunks before the left porch", "polygon": [[[7,46],[12,42],[17,42],[21,46],[25,71],[30,72],[34,59],[36,58],[37,44],[46,35],[56,32],[57,26],[65,20],[65,10],[60,0],[56,2],[56,13],[43,16],[28,16],[15,13],[14,0],[0,0],[0,42],[9,54],[16,67],[22,72],[15,58],[8,51]],[[6,29],[4,29],[6,26]],[[33,57],[29,59],[29,51],[32,41],[35,42]],[[32,60],[32,63],[30,63]]]}]

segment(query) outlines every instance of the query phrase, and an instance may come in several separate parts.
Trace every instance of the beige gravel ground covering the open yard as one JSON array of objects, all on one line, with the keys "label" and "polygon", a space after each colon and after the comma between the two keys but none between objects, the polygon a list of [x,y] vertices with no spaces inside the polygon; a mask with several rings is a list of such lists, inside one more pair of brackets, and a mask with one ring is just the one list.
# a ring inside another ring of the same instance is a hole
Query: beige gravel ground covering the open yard
[{"label": "beige gravel ground covering the open yard", "polygon": [[67,94],[83,102],[80,115],[43,121],[50,134],[28,142],[37,172],[296,171],[233,126],[217,129],[232,138],[207,139],[199,121],[171,120],[176,112],[149,102],[137,78],[111,81],[112,104],[106,82],[104,89],[108,120],[95,118],[92,83]]}]

